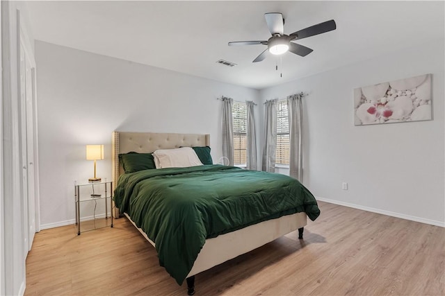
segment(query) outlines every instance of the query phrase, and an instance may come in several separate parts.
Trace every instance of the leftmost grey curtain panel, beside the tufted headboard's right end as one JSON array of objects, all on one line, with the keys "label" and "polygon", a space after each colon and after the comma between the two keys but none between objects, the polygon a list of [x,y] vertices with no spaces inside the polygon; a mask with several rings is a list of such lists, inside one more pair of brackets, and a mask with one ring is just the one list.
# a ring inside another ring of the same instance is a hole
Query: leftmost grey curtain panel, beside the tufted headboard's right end
[{"label": "leftmost grey curtain panel, beside the tufted headboard's right end", "polygon": [[232,121],[233,99],[223,96],[223,157],[229,159],[229,166],[234,165],[234,126]]}]

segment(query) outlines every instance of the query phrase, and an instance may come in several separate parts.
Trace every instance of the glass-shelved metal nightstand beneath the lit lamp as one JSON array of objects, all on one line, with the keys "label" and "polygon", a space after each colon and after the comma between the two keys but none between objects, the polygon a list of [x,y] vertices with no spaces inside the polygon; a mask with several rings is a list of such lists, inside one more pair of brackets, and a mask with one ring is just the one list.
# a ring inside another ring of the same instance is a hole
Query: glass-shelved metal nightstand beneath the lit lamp
[{"label": "glass-shelved metal nightstand beneath the lit lamp", "polygon": [[[113,227],[113,182],[74,182],[74,200],[78,235],[108,225]],[[81,211],[88,216],[81,218]]]}]

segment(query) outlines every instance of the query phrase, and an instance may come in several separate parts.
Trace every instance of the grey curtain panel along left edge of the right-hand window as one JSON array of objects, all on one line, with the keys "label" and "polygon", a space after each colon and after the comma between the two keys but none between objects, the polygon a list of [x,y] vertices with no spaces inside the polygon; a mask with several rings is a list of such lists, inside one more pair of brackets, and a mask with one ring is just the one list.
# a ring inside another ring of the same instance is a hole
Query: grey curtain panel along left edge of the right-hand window
[{"label": "grey curtain panel along left edge of the right-hand window", "polygon": [[275,173],[277,149],[277,99],[266,101],[266,124],[264,126],[264,147],[262,171]]}]

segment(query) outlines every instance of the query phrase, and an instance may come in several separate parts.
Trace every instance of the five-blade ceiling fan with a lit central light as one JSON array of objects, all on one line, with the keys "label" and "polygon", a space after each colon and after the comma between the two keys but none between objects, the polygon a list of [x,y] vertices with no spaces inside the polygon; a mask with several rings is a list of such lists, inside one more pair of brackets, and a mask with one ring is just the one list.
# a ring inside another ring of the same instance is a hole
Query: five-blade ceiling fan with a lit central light
[{"label": "five-blade ceiling fan with a lit central light", "polygon": [[229,42],[229,46],[256,44],[267,45],[268,48],[260,55],[258,55],[257,58],[253,60],[253,62],[261,62],[266,58],[268,53],[281,55],[286,51],[290,51],[291,53],[295,53],[296,55],[304,57],[309,53],[312,53],[313,49],[309,49],[309,47],[296,44],[291,41],[326,33],[337,28],[335,21],[331,19],[330,21],[325,21],[321,24],[316,24],[314,26],[304,28],[300,31],[293,32],[290,35],[286,35],[284,34],[283,15],[280,12],[265,13],[264,16],[266,17],[266,23],[269,28],[270,34],[272,34],[272,37],[270,37],[268,40]]}]

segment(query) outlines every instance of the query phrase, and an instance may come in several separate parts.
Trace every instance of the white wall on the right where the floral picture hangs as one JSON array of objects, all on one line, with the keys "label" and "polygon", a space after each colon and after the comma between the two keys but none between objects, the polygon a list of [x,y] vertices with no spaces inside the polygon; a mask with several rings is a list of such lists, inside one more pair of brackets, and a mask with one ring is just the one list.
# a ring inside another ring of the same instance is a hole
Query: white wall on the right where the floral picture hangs
[{"label": "white wall on the right where the floral picture hangs", "polygon": [[[432,121],[354,125],[354,88],[424,73],[432,73]],[[297,92],[309,93],[303,181],[314,195],[445,226],[444,40],[263,89],[260,95],[264,102]],[[348,182],[348,191],[342,182]]]}]

